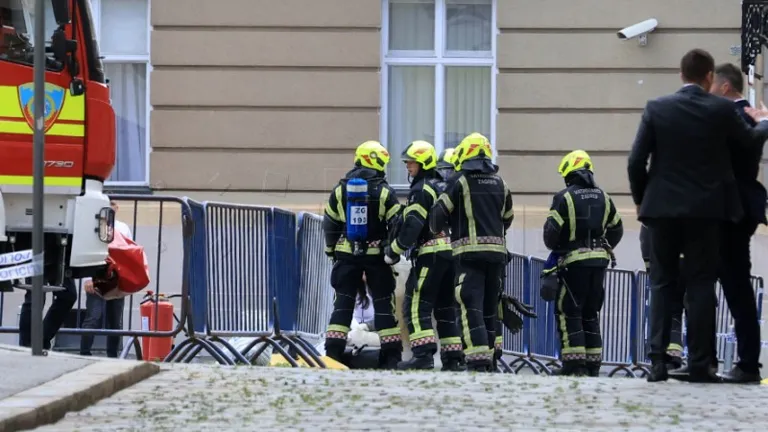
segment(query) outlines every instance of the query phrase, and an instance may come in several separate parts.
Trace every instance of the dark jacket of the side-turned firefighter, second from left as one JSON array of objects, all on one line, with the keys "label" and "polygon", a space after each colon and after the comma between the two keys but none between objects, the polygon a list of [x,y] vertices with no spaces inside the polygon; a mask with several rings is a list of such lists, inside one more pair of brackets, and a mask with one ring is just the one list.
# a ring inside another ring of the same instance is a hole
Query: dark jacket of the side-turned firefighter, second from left
[{"label": "dark jacket of the side-turned firefighter, second from left", "polygon": [[451,258],[451,238],[446,230],[432,234],[428,223],[429,212],[444,190],[445,182],[435,170],[422,171],[413,179],[402,225],[391,245],[392,252],[399,255],[416,246],[416,255],[439,253]]}]

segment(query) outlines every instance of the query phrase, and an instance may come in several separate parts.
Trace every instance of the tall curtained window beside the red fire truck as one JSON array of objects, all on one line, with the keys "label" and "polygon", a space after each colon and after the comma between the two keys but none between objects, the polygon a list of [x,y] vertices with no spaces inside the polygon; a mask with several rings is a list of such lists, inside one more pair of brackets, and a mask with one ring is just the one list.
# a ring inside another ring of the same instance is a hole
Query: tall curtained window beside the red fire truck
[{"label": "tall curtained window beside the red fire truck", "polygon": [[149,182],[149,1],[91,1],[117,120],[115,168],[107,181],[117,185]]}]

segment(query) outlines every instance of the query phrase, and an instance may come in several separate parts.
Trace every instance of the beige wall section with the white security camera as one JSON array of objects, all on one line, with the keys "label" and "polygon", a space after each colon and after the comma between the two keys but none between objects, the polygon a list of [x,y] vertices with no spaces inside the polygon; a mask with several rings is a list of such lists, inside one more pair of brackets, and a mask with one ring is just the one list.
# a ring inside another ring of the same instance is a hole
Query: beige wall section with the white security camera
[{"label": "beige wall section with the white security camera", "polygon": [[[559,158],[583,148],[600,184],[628,193],[626,156],[646,101],[680,86],[691,48],[738,64],[740,14],[726,0],[499,1],[497,142],[510,186],[551,193]],[[647,46],[617,38],[648,18],[659,28]]]}]

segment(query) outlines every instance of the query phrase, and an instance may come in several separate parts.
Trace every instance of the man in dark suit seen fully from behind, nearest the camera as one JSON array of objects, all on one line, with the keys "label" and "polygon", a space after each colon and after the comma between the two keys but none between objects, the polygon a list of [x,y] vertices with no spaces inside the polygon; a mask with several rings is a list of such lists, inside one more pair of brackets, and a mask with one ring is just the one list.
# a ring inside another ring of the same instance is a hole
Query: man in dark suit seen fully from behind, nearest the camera
[{"label": "man in dark suit seen fully from behind, nearest the camera", "polygon": [[708,52],[686,53],[680,62],[685,85],[648,101],[629,155],[627,171],[638,219],[651,229],[650,382],[669,377],[668,297],[674,295],[681,272],[687,296],[687,378],[721,381],[710,368],[721,226],[744,214],[730,156],[762,146],[768,138],[768,111],[752,112],[759,124],[747,125],[732,102],[708,92],[714,70]]}]

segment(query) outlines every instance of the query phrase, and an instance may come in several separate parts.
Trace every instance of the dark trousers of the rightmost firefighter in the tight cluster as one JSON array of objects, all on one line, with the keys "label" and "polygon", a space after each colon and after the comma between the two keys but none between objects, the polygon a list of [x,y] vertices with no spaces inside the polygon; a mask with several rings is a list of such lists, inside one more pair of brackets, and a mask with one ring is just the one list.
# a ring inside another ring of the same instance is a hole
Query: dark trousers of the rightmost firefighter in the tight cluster
[{"label": "dark trousers of the rightmost firefighter in the tight cluster", "polygon": [[502,263],[483,261],[454,261],[456,271],[456,302],[459,323],[468,363],[490,362],[496,332],[500,330],[499,293],[504,277]]}]

